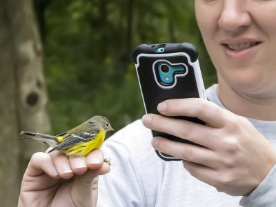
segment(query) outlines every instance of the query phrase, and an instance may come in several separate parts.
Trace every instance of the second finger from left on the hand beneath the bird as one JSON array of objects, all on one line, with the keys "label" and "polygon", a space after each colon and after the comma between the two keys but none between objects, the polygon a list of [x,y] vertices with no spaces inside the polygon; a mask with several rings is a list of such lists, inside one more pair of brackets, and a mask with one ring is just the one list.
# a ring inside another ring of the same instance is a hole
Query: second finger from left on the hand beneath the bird
[{"label": "second finger from left on the hand beneath the bird", "polygon": [[74,175],[70,166],[70,161],[66,155],[59,151],[50,152],[48,155],[51,156],[60,177],[63,179],[69,179]]}]

